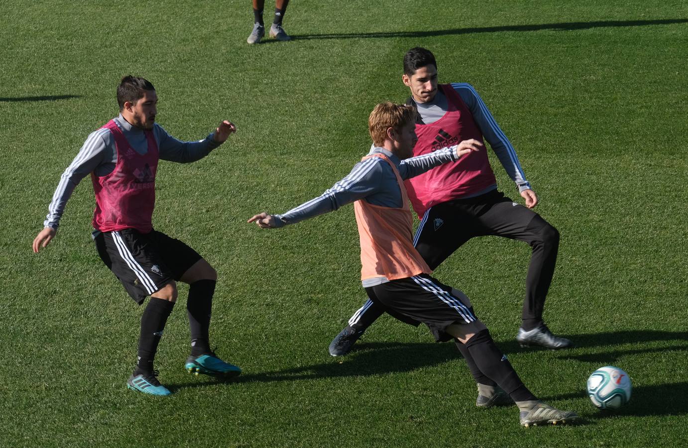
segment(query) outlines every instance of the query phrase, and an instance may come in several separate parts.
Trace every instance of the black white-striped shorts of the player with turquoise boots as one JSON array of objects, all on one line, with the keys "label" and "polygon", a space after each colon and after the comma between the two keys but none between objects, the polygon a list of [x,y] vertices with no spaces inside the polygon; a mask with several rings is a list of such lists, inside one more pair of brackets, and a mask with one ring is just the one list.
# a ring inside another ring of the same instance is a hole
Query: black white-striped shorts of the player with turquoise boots
[{"label": "black white-striped shorts of the player with turquoise boots", "polygon": [[98,233],[96,249],[114,275],[139,305],[171,280],[179,281],[198,260],[198,253],[179,239],[155,230],[133,228]]}]

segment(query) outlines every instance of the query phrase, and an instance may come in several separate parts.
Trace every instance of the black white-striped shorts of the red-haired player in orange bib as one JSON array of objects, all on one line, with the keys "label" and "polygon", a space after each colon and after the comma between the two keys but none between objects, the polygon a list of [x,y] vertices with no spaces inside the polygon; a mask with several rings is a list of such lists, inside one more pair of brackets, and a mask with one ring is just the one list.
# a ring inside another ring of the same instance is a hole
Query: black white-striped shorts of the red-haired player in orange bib
[{"label": "black white-striped shorts of the red-haired player in orange bib", "polygon": [[383,306],[396,319],[413,326],[421,322],[427,325],[438,342],[453,339],[445,331],[453,323],[477,320],[463,292],[427,274],[369,286],[365,292],[374,303]]}]

